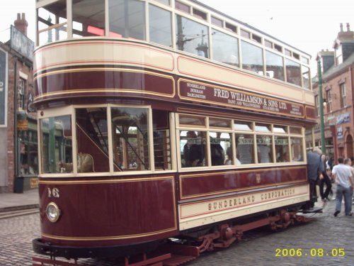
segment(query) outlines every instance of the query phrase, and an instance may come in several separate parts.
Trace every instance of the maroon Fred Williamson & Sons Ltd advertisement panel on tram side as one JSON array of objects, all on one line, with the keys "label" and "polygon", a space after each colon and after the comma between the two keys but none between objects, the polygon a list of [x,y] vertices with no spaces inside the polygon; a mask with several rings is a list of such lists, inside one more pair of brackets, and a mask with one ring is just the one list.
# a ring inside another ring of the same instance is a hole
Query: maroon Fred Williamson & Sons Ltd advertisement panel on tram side
[{"label": "maroon Fred Williamson & Sons Ltd advertisement panel on tram side", "polygon": [[209,84],[196,83],[188,79],[179,79],[178,93],[181,99],[189,101],[209,102],[210,104],[233,108],[280,113],[287,116],[304,118],[304,106],[302,104],[295,104],[260,94],[252,94],[244,92],[241,89],[212,87]]}]

